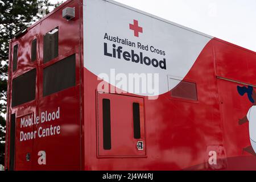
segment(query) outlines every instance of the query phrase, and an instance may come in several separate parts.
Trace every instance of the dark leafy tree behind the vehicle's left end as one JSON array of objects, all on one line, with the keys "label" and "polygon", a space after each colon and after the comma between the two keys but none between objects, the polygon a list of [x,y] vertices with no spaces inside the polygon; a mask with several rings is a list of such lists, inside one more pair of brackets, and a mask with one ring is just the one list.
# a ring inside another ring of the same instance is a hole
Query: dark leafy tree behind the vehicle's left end
[{"label": "dark leafy tree behind the vehicle's left end", "polygon": [[16,32],[30,26],[43,14],[49,13],[49,7],[56,7],[49,0],[0,0],[0,164],[4,165],[5,128],[7,101],[7,70],[9,40]]}]

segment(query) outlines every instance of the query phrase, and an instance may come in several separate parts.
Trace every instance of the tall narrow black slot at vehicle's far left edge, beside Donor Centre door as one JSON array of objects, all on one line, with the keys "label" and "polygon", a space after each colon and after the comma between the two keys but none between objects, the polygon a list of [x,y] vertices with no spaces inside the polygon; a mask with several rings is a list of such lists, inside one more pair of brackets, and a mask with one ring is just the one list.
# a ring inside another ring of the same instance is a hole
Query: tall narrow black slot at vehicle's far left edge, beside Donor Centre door
[{"label": "tall narrow black slot at vehicle's far left edge, beside Donor Centre door", "polygon": [[15,159],[15,114],[11,114],[11,133],[10,133],[10,159],[9,159],[9,170],[14,170],[14,159]]}]

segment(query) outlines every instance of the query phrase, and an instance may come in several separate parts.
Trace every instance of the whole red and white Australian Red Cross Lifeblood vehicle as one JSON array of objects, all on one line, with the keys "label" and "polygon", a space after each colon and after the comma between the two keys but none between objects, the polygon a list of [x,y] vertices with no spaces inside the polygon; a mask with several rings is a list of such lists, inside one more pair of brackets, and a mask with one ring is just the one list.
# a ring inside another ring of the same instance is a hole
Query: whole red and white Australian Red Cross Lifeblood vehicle
[{"label": "whole red and white Australian Red Cross Lifeblood vehicle", "polygon": [[9,56],[8,170],[256,169],[253,51],[73,0],[19,32]]}]

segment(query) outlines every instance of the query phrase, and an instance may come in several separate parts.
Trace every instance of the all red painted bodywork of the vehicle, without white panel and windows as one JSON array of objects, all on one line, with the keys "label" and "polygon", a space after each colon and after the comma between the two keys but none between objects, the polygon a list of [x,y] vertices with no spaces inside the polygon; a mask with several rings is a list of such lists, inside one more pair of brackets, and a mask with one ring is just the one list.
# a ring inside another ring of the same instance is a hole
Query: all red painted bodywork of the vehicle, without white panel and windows
[{"label": "all red painted bodywork of the vehicle, without white panel and windows", "polygon": [[[75,7],[76,17],[70,21],[62,18],[65,7]],[[86,37],[82,31],[85,26],[82,14],[81,0],[67,1],[10,42],[6,169],[256,169],[249,123],[238,123],[252,104],[237,92],[237,86],[250,85],[255,89],[255,52],[217,38],[210,40],[183,79],[196,84],[197,100],[172,97],[172,90],[160,94],[157,100],[131,93],[102,93],[97,90],[101,80],[84,67]],[[59,52],[57,57],[44,63],[43,37],[56,27]],[[31,61],[31,42],[35,39],[36,60]],[[13,71],[15,45],[18,45],[18,60]],[[44,96],[44,70],[72,55],[75,55],[75,84]],[[13,80],[34,69],[35,99],[12,106]],[[105,150],[103,141],[104,99],[110,101],[111,108],[110,150]],[[133,103],[139,104],[139,139],[134,138],[131,122]],[[22,127],[21,119],[36,121],[42,113],[57,114],[58,109],[59,119]],[[15,125],[14,131],[11,123]],[[54,126],[61,126],[60,134],[47,136],[48,129],[51,131]],[[41,137],[24,140],[23,136],[20,142],[20,131],[40,131]],[[11,135],[15,136],[14,146],[11,146]],[[137,148],[139,141],[143,142],[143,150]],[[39,151],[46,152],[46,164],[39,164]],[[209,163],[210,151],[216,151],[215,165]]]}]

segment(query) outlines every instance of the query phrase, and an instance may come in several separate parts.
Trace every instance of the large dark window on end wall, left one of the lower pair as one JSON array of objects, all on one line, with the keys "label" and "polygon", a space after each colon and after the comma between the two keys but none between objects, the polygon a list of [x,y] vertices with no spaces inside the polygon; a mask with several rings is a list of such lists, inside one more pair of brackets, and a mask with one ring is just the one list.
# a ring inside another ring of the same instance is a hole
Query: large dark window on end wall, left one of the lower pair
[{"label": "large dark window on end wall, left one of the lower pair", "polygon": [[13,79],[11,106],[24,104],[35,99],[36,69]]}]

